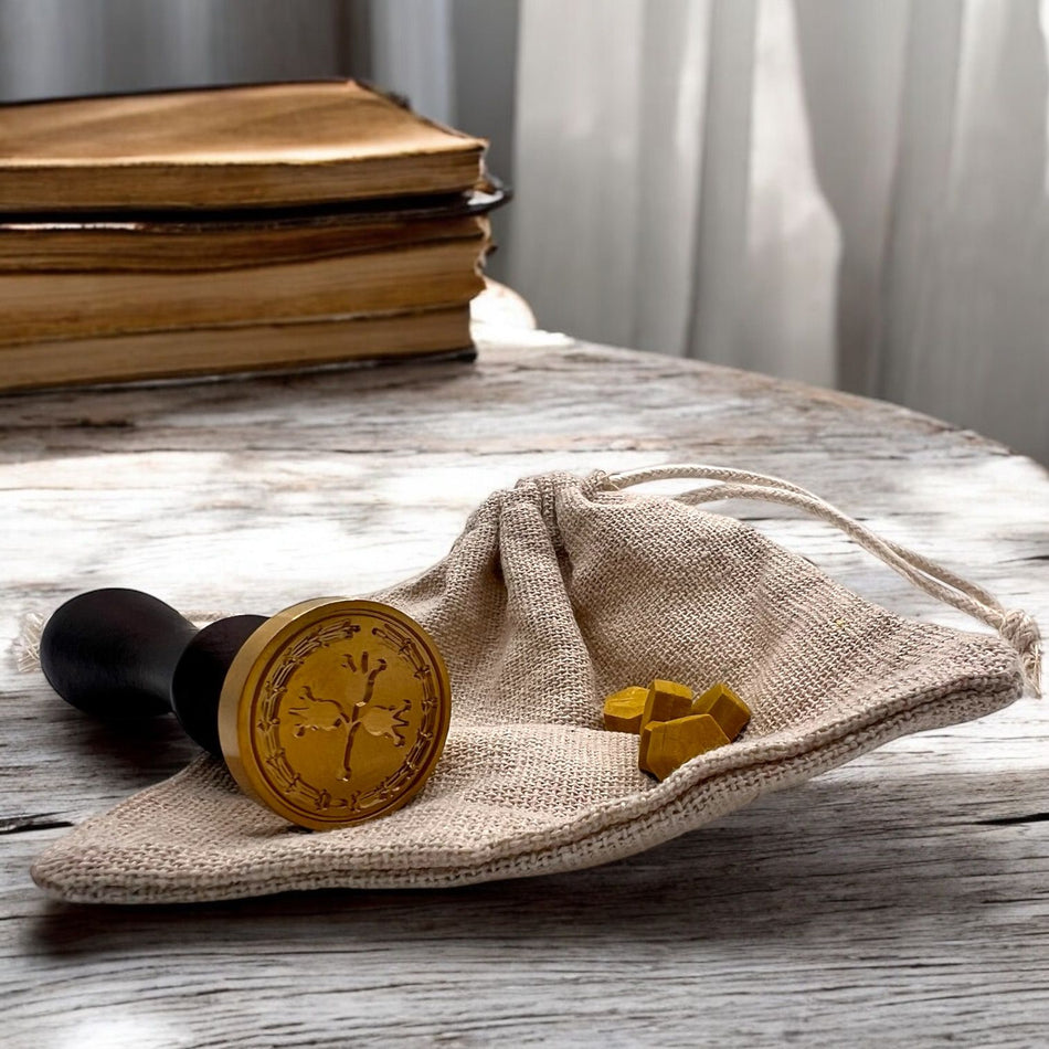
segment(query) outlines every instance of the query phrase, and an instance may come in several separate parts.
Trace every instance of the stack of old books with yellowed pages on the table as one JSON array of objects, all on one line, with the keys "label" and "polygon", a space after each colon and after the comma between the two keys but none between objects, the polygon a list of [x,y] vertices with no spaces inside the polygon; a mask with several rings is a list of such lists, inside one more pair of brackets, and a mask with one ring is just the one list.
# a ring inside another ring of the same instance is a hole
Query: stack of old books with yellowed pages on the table
[{"label": "stack of old books with yellowed pages on the table", "polygon": [[0,107],[0,388],[470,352],[485,142],[353,82]]}]

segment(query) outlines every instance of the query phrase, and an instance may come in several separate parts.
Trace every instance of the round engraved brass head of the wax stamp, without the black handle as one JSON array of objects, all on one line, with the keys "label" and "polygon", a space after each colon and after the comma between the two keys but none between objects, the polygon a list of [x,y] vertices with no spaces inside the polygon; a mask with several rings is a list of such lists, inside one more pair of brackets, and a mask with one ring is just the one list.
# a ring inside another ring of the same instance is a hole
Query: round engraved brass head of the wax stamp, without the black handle
[{"label": "round engraved brass head of the wax stamp, without the black handle", "polygon": [[226,674],[219,739],[255,801],[314,830],[406,804],[448,732],[452,689],[433,638],[374,601],[319,598],[278,612]]}]

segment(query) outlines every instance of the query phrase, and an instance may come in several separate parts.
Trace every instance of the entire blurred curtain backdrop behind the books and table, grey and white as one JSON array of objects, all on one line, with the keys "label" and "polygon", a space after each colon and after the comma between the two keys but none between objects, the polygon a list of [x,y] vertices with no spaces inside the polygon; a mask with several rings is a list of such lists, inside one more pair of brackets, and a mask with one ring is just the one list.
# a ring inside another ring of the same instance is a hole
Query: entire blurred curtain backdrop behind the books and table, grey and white
[{"label": "entire blurred curtain backdrop behind the books and table, grey and white", "polygon": [[541,327],[1043,464],[1047,53],[1049,0],[0,0],[3,100],[369,80],[490,140]]}]

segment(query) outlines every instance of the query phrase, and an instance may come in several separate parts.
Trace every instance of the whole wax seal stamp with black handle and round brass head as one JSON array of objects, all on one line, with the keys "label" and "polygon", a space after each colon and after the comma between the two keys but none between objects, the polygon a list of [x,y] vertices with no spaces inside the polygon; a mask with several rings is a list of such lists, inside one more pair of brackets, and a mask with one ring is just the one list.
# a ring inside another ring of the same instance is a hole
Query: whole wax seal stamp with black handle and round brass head
[{"label": "whole wax seal stamp with black handle and round brass head", "polygon": [[411,616],[317,598],[198,631],[134,590],[99,590],[47,621],[41,667],[102,718],[173,712],[241,788],[315,830],[394,812],[433,771],[451,719],[448,671]]}]

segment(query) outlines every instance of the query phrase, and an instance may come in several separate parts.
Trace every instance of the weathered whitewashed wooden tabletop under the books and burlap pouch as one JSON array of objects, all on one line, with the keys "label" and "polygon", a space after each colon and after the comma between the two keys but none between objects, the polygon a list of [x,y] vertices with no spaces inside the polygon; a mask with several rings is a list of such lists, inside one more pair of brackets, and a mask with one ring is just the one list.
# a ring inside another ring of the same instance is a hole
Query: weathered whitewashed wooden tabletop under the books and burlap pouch
[{"label": "weathered whitewashed wooden tabletop under the books and burlap pouch", "polygon": [[[887,404],[489,337],[473,367],[0,399],[0,644],[96,586],[262,613],[367,593],[522,475],[670,460],[805,485],[1049,623],[1049,480],[1030,460]],[[973,626],[825,524],[735,509],[894,611]],[[107,734],[10,659],[0,688],[4,1046],[1045,1043],[1036,700],[589,871],[93,909],[49,900],[34,856],[193,746],[170,719]]]}]

